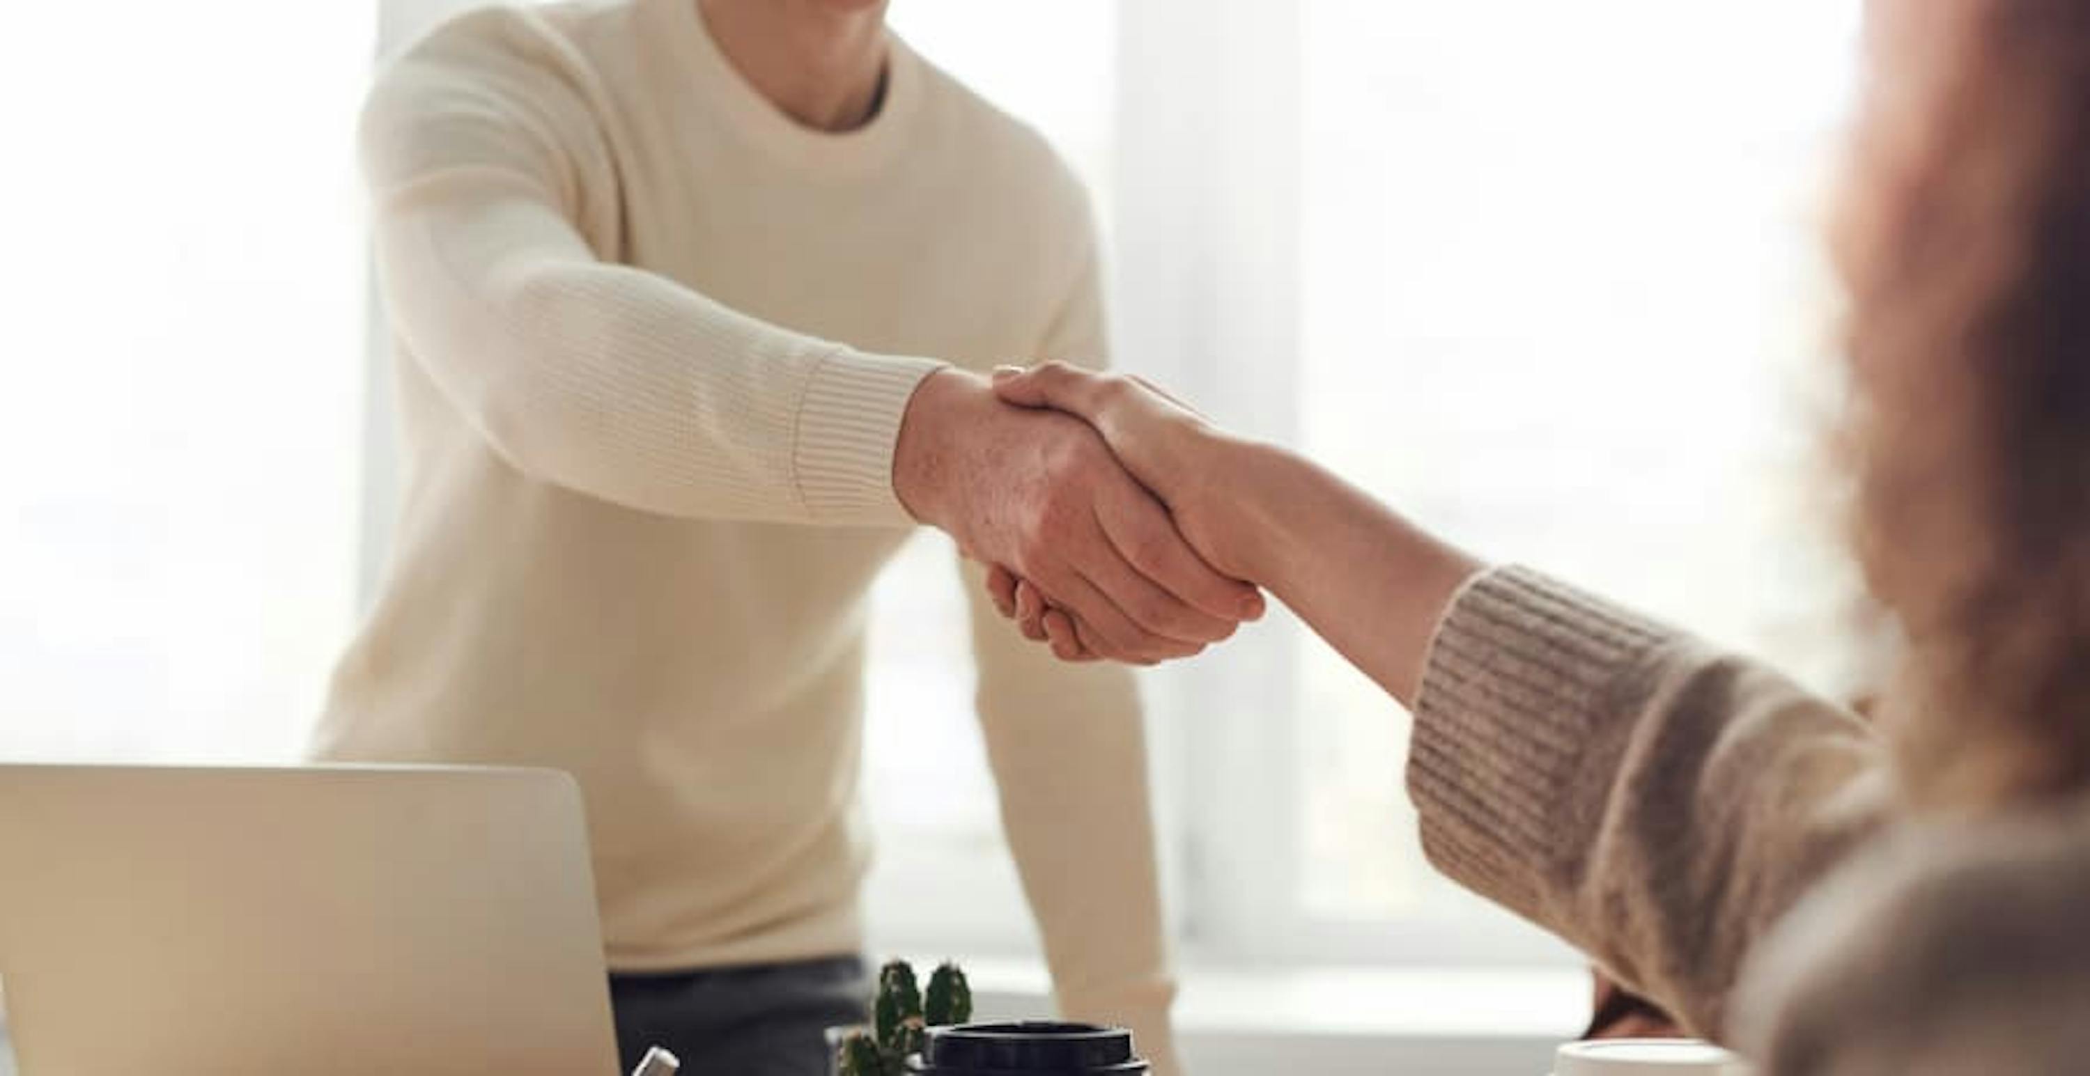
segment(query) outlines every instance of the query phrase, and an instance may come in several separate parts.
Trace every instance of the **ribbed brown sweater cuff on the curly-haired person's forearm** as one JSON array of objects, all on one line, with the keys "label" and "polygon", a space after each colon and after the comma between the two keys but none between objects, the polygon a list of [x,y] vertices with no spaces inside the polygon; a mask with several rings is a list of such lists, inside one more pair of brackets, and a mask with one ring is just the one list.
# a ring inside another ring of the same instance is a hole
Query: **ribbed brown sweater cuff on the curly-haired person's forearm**
[{"label": "ribbed brown sweater cuff on the curly-haired person's forearm", "polygon": [[[1409,746],[1423,850],[1455,882],[1547,923],[1551,863],[1586,844],[1616,765],[1590,758],[1611,700],[1670,633],[1528,568],[1467,581],[1438,623]],[[1601,748],[1597,748],[1601,750]]]}]

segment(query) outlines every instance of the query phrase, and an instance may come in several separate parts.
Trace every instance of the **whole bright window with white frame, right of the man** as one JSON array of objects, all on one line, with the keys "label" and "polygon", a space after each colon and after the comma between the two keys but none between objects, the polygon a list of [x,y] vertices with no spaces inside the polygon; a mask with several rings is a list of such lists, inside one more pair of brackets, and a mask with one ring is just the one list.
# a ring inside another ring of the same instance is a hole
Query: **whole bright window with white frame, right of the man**
[{"label": "whole bright window with white frame, right of the man", "polygon": [[[1852,683],[1804,474],[1858,0],[1164,0],[1116,27],[1039,8],[913,0],[895,21],[1116,207],[1122,366],[1488,556]],[[1116,79],[1093,71],[1112,52]],[[955,917],[1024,946],[984,765],[938,763],[930,792],[909,769],[911,744],[976,744],[947,556],[918,543],[880,589],[874,905],[903,936]],[[1193,957],[1565,959],[1430,871],[1407,715],[1298,625],[1156,687]],[[947,907],[907,882],[957,869],[1001,890]]]}]

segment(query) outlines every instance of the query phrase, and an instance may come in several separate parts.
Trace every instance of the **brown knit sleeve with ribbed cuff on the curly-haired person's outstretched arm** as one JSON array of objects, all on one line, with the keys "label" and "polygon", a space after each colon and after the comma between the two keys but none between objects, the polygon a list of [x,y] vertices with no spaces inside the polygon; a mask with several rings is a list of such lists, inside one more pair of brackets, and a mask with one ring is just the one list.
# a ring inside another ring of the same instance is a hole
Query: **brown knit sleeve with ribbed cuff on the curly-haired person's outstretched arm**
[{"label": "brown knit sleeve with ribbed cuff on the curly-haired person's outstretched arm", "polygon": [[1467,583],[1423,673],[1432,863],[1708,1036],[1751,944],[1887,813],[1854,715],[1524,568]]}]

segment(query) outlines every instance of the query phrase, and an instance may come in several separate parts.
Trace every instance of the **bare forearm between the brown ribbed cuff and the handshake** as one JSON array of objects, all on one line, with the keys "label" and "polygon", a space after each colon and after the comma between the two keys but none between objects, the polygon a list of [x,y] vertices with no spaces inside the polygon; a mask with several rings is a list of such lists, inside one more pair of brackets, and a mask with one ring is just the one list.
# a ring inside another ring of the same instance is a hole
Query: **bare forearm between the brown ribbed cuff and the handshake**
[{"label": "bare forearm between the brown ribbed cuff and the handshake", "polygon": [[1223,497],[1250,579],[1402,704],[1430,637],[1482,562],[1294,451],[1231,443]]}]

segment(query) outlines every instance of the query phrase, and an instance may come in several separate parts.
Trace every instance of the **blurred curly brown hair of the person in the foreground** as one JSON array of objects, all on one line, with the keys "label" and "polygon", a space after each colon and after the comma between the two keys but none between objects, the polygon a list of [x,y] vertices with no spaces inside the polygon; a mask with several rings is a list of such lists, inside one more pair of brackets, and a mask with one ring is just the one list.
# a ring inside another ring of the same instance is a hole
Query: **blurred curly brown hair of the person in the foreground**
[{"label": "blurred curly brown hair of the person in the foreground", "polygon": [[2090,0],[1875,0],[1835,255],[1910,794],[2090,790]]}]

